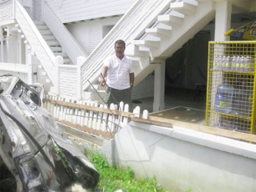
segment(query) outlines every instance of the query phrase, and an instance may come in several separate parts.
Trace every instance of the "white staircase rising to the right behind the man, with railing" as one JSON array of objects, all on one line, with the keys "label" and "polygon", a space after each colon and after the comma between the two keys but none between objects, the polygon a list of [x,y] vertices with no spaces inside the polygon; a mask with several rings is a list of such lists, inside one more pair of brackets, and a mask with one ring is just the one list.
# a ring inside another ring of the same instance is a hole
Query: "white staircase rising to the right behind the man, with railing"
[{"label": "white staircase rising to the right behind the man, with railing", "polygon": [[[109,39],[122,38],[126,41],[125,54],[131,58],[135,68],[135,86],[214,18],[214,5],[211,0],[139,2],[140,4],[135,5],[121,18],[108,36]],[[131,15],[135,15],[135,18],[131,19]],[[149,17],[153,19],[150,20]],[[115,31],[119,32],[115,34]],[[122,36],[122,32],[125,35]],[[114,54],[114,50],[101,50],[101,47],[112,48],[114,42],[108,41],[108,38],[101,42],[98,50],[93,52],[83,65],[87,68],[82,72],[85,94],[94,91],[88,81],[98,83],[103,59]],[[99,52],[100,58],[94,58]]]}]

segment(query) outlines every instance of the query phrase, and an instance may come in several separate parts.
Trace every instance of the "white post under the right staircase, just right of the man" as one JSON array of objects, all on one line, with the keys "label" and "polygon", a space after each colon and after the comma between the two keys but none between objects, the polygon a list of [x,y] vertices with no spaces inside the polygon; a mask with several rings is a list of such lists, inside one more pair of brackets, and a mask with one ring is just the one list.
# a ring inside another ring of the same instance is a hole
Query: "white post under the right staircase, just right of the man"
[{"label": "white post under the right staircase, just right of the man", "polygon": [[153,111],[165,109],[165,61],[155,69]]}]

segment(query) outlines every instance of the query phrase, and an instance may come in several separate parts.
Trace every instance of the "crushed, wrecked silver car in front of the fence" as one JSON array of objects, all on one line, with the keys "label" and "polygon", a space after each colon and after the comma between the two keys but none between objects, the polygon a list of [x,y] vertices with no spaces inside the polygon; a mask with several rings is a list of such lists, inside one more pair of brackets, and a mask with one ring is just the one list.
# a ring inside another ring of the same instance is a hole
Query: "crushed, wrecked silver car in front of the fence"
[{"label": "crushed, wrecked silver car in front of the fence", "polygon": [[0,191],[94,190],[98,171],[41,107],[42,91],[0,76]]}]

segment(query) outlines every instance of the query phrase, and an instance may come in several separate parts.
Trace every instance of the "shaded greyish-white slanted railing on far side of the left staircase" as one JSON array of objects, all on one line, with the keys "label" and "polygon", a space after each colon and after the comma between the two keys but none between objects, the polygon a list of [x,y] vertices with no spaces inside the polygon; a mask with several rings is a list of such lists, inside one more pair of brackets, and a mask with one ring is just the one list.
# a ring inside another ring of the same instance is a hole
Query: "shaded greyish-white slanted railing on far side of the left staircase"
[{"label": "shaded greyish-white slanted railing on far side of the left staircase", "polygon": [[52,12],[52,9],[46,1],[43,1],[42,3],[42,18],[50,31],[52,31],[52,34],[62,45],[62,51],[67,53],[74,64],[76,64],[78,57],[88,56],[75,38],[70,34],[68,29],[65,28],[60,19],[54,12]]}]

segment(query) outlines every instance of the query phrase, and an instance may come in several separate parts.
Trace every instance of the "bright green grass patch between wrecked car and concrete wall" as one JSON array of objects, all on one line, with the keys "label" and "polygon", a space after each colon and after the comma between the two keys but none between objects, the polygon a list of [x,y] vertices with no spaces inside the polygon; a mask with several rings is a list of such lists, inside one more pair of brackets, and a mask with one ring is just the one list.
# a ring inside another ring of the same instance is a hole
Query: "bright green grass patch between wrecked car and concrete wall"
[{"label": "bright green grass patch between wrecked car and concrete wall", "polygon": [[123,190],[125,192],[162,192],[167,191],[155,178],[135,178],[134,171],[128,167],[126,170],[115,168],[108,164],[97,151],[87,151],[86,156],[95,165],[100,174],[98,190],[104,192],[114,192]]}]

